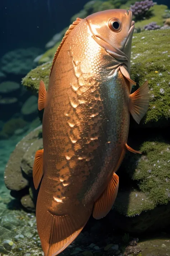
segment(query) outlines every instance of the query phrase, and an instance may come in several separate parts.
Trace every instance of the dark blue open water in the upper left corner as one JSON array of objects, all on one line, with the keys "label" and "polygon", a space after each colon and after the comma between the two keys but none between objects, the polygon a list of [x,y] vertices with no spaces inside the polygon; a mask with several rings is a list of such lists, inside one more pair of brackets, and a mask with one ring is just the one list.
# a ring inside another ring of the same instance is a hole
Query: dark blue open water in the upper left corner
[{"label": "dark blue open water in the upper left corner", "polygon": [[0,56],[15,48],[44,48],[87,0],[1,0]]}]

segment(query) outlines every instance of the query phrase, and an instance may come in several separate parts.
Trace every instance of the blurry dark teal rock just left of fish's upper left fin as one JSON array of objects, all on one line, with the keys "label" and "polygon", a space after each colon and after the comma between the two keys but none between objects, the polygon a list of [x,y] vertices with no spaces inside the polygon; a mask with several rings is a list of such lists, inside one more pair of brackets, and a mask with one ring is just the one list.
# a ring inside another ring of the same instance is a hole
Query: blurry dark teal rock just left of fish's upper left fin
[{"label": "blurry dark teal rock just left of fish's upper left fin", "polygon": [[30,96],[22,106],[21,113],[26,120],[38,115],[38,98],[35,95]]}]

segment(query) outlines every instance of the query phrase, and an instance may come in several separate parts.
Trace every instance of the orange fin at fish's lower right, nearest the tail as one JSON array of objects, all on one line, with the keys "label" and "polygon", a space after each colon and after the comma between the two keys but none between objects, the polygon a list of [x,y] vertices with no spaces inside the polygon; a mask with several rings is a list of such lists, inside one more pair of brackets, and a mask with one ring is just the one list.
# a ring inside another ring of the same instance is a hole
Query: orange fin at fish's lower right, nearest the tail
[{"label": "orange fin at fish's lower right, nearest the tail", "polygon": [[105,188],[104,192],[94,203],[93,217],[95,219],[101,219],[105,217],[111,210],[114,201],[117,197],[119,187],[119,176],[113,173],[112,180]]}]

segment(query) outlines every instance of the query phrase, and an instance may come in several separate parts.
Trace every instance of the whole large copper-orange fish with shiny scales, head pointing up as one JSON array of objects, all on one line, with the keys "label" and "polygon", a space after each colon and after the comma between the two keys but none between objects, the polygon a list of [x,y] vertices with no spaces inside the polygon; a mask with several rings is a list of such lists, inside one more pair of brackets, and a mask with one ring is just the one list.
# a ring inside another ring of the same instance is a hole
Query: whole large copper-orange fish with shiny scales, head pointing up
[{"label": "whole large copper-orange fish with shiny scales, head pointing up", "polygon": [[129,116],[147,111],[147,81],[131,94],[132,12],[106,10],[77,18],[53,59],[48,90],[39,87],[43,147],[33,180],[40,181],[36,218],[45,256],[74,241],[91,214],[103,218],[118,192],[118,170],[127,145]]}]

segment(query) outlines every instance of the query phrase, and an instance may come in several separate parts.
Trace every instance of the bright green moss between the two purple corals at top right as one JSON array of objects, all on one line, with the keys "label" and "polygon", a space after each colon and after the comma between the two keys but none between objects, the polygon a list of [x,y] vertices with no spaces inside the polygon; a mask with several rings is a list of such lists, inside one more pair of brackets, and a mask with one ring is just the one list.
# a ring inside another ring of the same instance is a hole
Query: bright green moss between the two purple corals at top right
[{"label": "bright green moss between the two purple corals at top right", "polygon": [[154,5],[150,8],[150,11],[152,12],[152,17],[148,19],[144,19],[143,21],[138,21],[135,23],[136,28],[143,28],[145,25],[151,23],[151,22],[157,22],[158,25],[163,26],[164,24],[164,19],[163,15],[165,14],[165,10],[167,10],[166,5]]}]

